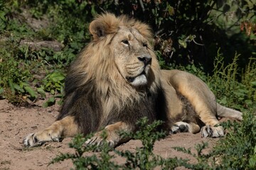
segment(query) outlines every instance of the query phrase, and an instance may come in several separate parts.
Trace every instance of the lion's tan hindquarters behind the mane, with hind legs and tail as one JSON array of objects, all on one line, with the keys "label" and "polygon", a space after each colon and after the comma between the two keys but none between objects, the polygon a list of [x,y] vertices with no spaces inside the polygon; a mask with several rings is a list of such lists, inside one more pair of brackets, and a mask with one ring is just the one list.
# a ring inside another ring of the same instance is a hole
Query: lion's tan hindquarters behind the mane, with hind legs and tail
[{"label": "lion's tan hindquarters behind the mane, with hind legs and tail", "polygon": [[[208,89],[208,86],[201,79],[198,79],[193,74],[176,69],[161,70],[161,74],[161,81],[163,82],[162,85],[166,92],[169,106],[169,115],[172,119],[178,118],[178,121],[184,121],[185,124],[189,123],[187,125],[189,132],[199,132],[198,125],[205,125],[201,129],[203,137],[222,137],[224,132],[223,128],[218,126],[218,118],[230,117],[242,120],[242,113],[239,111],[216,103],[213,92]],[[193,118],[191,118],[191,115],[179,116],[183,112],[183,103],[178,100],[177,92],[191,103],[196,113]],[[214,127],[216,125],[218,127]]]}]

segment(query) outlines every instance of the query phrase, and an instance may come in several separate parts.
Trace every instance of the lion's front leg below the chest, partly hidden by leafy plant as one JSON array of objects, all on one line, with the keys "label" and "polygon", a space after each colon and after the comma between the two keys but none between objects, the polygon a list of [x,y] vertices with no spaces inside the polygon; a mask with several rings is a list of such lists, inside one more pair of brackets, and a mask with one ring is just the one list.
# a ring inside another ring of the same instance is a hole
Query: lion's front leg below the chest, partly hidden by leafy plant
[{"label": "lion's front leg below the chest, partly hidden by leafy plant", "polygon": [[111,125],[107,125],[104,130],[96,132],[95,135],[85,142],[85,145],[101,145],[104,140],[102,137],[102,133],[105,131],[107,133],[106,141],[110,147],[115,147],[119,143],[126,142],[127,138],[122,138],[119,136],[118,132],[125,131],[131,132],[134,130],[130,125],[124,122],[117,122]]}]

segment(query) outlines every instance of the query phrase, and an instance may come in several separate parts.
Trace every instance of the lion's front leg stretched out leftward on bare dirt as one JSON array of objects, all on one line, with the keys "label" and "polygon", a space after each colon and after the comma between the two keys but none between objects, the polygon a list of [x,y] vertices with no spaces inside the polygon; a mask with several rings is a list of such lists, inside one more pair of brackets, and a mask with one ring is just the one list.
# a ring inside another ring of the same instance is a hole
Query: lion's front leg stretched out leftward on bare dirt
[{"label": "lion's front leg stretched out leftward on bare dirt", "polygon": [[31,133],[23,140],[25,147],[36,147],[43,145],[45,142],[59,142],[63,137],[73,137],[78,134],[78,125],[73,116],[67,116],[62,120],[55,121],[45,130]]}]

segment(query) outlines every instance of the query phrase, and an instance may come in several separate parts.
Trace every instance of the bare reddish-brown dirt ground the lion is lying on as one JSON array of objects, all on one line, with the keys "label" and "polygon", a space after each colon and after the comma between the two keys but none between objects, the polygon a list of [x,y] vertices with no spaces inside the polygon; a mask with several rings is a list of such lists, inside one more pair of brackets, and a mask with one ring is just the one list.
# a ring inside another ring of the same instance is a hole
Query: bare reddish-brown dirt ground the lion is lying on
[{"label": "bare reddish-brown dirt ground the lion is lying on", "polygon": [[[70,169],[73,167],[71,161],[57,164],[48,163],[60,152],[73,152],[68,147],[72,140],[66,138],[63,142],[50,142],[42,147],[24,149],[23,137],[31,132],[36,132],[48,127],[58,115],[59,106],[42,108],[41,103],[31,108],[16,107],[6,100],[0,100],[0,170],[4,169]],[[201,142],[213,145],[218,139],[201,138],[200,134],[180,133],[169,135],[164,140],[155,143],[154,153],[161,157],[183,157],[188,155],[176,152],[172,147],[193,148]],[[130,140],[120,145],[117,149],[135,149],[142,146],[139,140]],[[123,159],[116,159],[124,162]],[[193,159],[191,159],[193,161]],[[181,168],[182,169],[182,168]]]}]

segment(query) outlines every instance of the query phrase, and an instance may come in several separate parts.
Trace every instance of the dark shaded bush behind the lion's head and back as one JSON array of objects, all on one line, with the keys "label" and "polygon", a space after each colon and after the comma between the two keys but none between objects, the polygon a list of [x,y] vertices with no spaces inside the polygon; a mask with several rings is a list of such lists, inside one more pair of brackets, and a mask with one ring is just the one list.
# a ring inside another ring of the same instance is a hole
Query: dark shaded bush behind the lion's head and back
[{"label": "dark shaded bush behind the lion's head and back", "polygon": [[92,1],[94,3],[100,3],[95,6],[98,13],[103,9],[149,23],[155,33],[155,50],[165,64],[202,65],[211,73],[219,47],[223,49],[226,64],[233,60],[234,51],[242,54],[239,65],[243,66],[256,54],[256,16],[252,1]]}]

